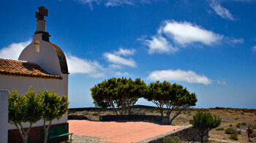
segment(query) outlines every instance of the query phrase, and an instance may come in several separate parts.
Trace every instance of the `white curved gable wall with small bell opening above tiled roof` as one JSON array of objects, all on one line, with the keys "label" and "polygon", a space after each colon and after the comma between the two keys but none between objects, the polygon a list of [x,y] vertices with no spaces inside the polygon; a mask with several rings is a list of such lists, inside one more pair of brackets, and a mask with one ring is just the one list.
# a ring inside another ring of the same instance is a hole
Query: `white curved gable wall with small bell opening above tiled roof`
[{"label": "white curved gable wall with small bell opening above tiled roof", "polygon": [[[39,53],[35,52],[34,42],[36,40],[39,40]],[[61,66],[59,65],[59,57],[56,50],[42,40],[42,34],[33,35],[33,41],[20,53],[18,60],[37,63],[50,74],[61,74]]]}]

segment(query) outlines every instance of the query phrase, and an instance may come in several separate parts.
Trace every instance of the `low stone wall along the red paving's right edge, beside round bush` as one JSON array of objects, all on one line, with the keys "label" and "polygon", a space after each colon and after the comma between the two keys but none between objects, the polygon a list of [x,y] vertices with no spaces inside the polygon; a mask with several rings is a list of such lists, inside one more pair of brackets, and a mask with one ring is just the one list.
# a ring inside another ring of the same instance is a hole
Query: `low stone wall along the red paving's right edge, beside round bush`
[{"label": "low stone wall along the red paving's right edge, beside round bush", "polygon": [[188,142],[200,142],[200,136],[198,136],[197,131],[195,131],[195,128],[192,128],[192,125],[184,125],[181,128],[178,128],[175,131],[169,131],[165,134],[161,134],[159,136],[154,136],[150,139],[145,139],[143,141],[140,141],[138,143],[162,143],[164,137],[166,136],[178,136],[183,141]]}]

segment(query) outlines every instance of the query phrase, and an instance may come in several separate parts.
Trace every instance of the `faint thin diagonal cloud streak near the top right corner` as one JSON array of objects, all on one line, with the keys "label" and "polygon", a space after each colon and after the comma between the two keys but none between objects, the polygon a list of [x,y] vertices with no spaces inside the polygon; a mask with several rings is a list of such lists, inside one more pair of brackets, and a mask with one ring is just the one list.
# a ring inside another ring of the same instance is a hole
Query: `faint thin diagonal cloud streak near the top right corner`
[{"label": "faint thin diagonal cloud streak near the top right corner", "polygon": [[218,4],[216,1],[213,1],[210,4],[211,8],[214,9],[214,11],[222,18],[229,19],[229,20],[235,20],[233,18],[233,15],[230,13],[228,9],[225,7],[222,7],[220,4]]}]

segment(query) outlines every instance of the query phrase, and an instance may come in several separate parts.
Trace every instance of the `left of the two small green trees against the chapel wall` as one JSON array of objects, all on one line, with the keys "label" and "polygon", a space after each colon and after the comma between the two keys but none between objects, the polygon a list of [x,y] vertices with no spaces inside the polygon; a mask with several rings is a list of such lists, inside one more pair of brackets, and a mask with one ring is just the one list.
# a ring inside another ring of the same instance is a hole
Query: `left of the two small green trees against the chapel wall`
[{"label": "left of the two small green trees against the chapel wall", "polygon": [[[28,142],[29,131],[33,123],[41,119],[42,96],[36,95],[32,87],[24,95],[18,94],[17,90],[9,92],[8,120],[15,125],[23,138],[23,142]],[[25,130],[22,122],[29,122],[29,128]]]}]

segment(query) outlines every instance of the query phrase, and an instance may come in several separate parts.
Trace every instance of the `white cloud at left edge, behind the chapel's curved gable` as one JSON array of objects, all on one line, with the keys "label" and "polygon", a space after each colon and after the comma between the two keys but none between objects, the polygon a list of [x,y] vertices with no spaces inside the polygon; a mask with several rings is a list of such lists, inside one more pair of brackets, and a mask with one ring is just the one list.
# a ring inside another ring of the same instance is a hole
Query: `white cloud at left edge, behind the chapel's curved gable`
[{"label": "white cloud at left edge, behind the chapel's curved gable", "polygon": [[31,43],[31,39],[26,42],[12,43],[0,49],[0,58],[18,60],[22,50]]}]

